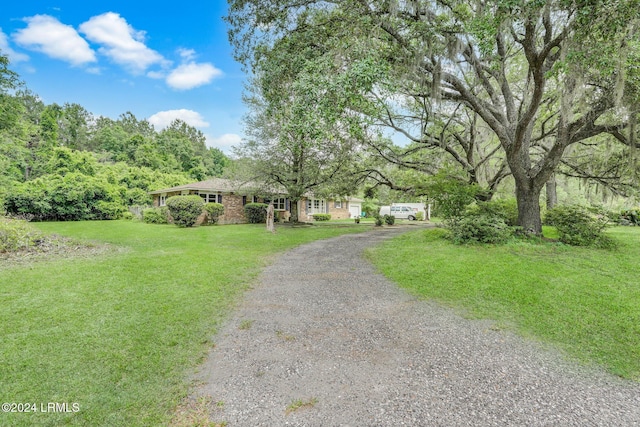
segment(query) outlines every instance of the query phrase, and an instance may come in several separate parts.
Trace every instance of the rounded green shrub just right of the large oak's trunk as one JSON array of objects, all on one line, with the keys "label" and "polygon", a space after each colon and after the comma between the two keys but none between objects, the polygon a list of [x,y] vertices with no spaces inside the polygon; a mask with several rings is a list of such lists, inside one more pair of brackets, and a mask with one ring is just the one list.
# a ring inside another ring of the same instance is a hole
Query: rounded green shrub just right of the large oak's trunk
[{"label": "rounded green shrub just right of the large oak's trunk", "polygon": [[608,217],[598,208],[579,205],[557,206],[547,211],[545,222],[556,227],[558,239],[567,245],[612,245],[612,241],[602,234],[608,225]]}]

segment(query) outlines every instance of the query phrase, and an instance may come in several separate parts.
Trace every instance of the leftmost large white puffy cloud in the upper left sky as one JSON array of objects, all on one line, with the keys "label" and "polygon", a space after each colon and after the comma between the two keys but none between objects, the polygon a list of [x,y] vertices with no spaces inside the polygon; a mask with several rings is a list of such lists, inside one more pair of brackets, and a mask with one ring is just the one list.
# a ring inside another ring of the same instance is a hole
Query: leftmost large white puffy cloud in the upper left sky
[{"label": "leftmost large white puffy cloud in the upper left sky", "polygon": [[27,28],[13,34],[13,39],[19,45],[72,65],[96,62],[95,52],[70,25],[64,25],[48,15],[25,18],[25,22]]}]

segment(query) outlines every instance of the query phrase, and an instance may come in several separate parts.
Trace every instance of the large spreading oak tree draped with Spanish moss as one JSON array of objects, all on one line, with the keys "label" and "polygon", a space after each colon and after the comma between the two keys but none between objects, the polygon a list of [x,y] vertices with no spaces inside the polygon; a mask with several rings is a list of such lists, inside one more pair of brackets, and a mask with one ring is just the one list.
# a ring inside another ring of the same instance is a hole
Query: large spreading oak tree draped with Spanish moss
[{"label": "large spreading oak tree draped with Spanish moss", "polygon": [[369,54],[439,117],[464,105],[500,143],[519,225],[540,234],[540,192],[568,147],[607,132],[636,145],[639,11],[631,0],[230,0],[227,19],[247,67],[293,37],[330,46],[338,71]]}]

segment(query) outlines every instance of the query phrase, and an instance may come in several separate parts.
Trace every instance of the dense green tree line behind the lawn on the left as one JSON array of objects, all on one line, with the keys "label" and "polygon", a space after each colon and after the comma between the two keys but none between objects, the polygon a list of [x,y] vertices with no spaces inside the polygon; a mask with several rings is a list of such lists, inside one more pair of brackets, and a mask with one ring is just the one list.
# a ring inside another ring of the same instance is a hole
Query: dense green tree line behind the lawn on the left
[{"label": "dense green tree line behind the lawn on the left", "polygon": [[0,52],[0,203],[41,220],[118,218],[147,192],[220,176],[229,158],[184,121],[156,130],[131,112],[45,104]]}]

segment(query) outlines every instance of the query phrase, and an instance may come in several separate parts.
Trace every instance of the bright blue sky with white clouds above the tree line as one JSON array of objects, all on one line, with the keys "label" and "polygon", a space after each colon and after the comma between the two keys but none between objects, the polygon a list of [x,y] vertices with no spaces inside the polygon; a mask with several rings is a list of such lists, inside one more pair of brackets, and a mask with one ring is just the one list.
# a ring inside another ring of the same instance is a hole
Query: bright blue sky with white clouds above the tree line
[{"label": "bright blue sky with white clouds above the tree line", "polygon": [[181,118],[229,152],[242,135],[245,75],[226,8],[223,0],[8,1],[0,51],[47,104],[114,119],[130,111],[156,129]]}]

